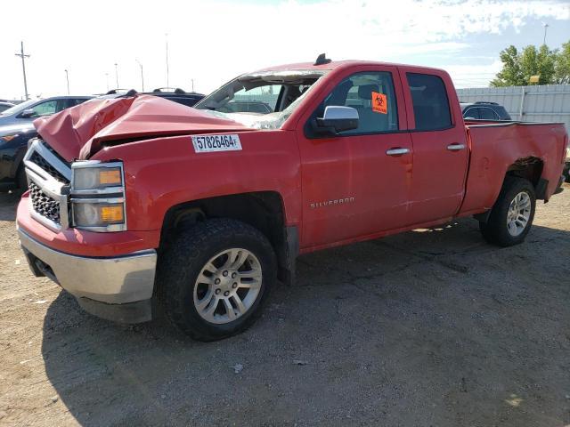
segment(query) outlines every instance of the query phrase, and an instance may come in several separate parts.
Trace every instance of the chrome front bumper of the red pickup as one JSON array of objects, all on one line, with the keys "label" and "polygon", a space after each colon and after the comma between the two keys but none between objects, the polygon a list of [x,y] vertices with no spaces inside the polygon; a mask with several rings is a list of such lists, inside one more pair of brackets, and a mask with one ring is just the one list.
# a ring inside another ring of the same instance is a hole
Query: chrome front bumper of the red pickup
[{"label": "chrome front bumper of the red pickup", "polygon": [[34,274],[52,278],[86,311],[124,323],[151,320],[154,249],[115,257],[77,256],[45,246],[21,228],[18,233]]}]

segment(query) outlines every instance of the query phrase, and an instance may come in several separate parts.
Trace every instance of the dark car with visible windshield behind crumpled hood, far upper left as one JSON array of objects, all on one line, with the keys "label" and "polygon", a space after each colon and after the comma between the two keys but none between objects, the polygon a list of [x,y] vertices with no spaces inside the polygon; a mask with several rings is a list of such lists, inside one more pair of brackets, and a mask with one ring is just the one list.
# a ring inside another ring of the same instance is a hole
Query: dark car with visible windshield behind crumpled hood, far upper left
[{"label": "dark car with visible windshield behind crumpled hood, far upper left", "polygon": [[94,96],[53,96],[43,100],[25,101],[0,113],[0,126],[33,122],[37,117],[51,116],[93,98]]}]

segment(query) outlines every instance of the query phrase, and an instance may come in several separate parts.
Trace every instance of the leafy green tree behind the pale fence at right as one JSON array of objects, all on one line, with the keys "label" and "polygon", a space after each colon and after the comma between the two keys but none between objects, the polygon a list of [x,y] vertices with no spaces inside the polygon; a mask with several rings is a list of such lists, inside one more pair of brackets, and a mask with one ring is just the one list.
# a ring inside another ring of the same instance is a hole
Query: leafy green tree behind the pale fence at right
[{"label": "leafy green tree behind the pale fence at right", "polygon": [[[570,44],[568,42],[567,44]],[[563,44],[563,47],[566,44]],[[568,77],[568,60],[570,60],[570,47],[565,47],[566,68],[564,65],[564,52],[551,51],[546,44],[540,48],[530,45],[522,52],[518,52],[513,45],[501,51],[502,69],[491,82],[492,86],[524,86],[529,85],[531,76],[539,76],[539,85],[551,85]],[[566,69],[566,71],[565,71]],[[560,77],[558,77],[558,73]],[[566,74],[565,74],[566,73]]]}]

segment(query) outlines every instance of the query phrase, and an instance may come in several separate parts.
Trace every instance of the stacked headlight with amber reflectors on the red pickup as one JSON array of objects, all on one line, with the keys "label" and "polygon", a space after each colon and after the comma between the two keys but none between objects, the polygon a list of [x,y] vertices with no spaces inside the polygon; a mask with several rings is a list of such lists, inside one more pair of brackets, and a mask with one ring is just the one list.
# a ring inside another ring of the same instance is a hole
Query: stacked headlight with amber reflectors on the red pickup
[{"label": "stacked headlight with amber reflectors on the red pickup", "polygon": [[122,162],[97,160],[71,165],[71,218],[77,229],[126,230],[125,176]]}]

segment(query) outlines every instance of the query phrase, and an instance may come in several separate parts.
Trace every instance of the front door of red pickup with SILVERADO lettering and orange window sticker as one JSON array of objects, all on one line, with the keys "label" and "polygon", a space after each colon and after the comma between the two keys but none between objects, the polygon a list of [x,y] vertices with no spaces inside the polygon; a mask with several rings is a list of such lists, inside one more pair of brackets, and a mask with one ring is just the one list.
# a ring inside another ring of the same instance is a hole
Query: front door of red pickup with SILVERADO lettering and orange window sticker
[{"label": "front door of red pickup with SILVERADO lettering and orange window sticker", "polygon": [[[362,66],[335,79],[297,126],[303,192],[302,247],[331,246],[406,222],[412,144],[395,67]],[[379,105],[379,104],[383,105]],[[358,127],[314,132],[327,106],[356,109]]]}]

